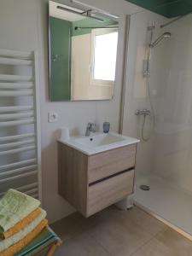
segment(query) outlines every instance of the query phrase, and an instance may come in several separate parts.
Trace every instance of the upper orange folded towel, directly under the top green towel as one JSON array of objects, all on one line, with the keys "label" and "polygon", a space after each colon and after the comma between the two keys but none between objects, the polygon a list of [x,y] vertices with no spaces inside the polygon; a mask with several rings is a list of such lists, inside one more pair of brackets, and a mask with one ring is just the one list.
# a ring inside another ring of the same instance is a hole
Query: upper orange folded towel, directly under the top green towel
[{"label": "upper orange folded towel, directly under the top green towel", "polygon": [[37,208],[34,211],[32,211],[29,215],[27,215],[26,218],[23,218],[17,224],[15,224],[15,226],[13,226],[12,228],[10,228],[9,230],[7,230],[3,233],[0,233],[0,241],[1,241],[1,239],[2,240],[6,239],[9,236],[15,235],[15,233],[17,233],[17,232],[20,232],[20,230],[24,229],[27,224],[30,224],[32,222],[32,220],[37,218],[40,213],[41,213],[41,209]]}]

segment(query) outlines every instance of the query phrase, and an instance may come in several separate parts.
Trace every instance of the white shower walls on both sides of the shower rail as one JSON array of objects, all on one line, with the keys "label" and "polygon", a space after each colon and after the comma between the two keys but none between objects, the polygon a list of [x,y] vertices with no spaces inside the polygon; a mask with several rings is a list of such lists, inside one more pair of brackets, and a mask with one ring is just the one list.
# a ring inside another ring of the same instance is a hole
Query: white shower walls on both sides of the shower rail
[{"label": "white shower walls on both sides of the shower rail", "polygon": [[140,137],[142,119],[137,108],[150,109],[143,60],[147,47],[147,26],[156,26],[154,38],[172,32],[152,50],[149,87],[155,112],[155,129],[148,143],[139,143],[137,178],[148,174],[192,193],[192,15],[164,29],[166,19],[142,12],[131,15],[130,42],[125,91],[123,133]]}]

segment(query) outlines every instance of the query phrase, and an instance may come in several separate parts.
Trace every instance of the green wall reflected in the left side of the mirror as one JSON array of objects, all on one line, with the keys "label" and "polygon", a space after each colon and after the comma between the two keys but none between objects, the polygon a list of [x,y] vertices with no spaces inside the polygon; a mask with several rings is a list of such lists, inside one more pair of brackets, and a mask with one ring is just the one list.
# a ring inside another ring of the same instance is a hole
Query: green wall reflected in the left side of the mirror
[{"label": "green wall reflected in the left side of the mirror", "polygon": [[[49,95],[53,102],[71,98],[71,29],[72,22],[49,17]],[[58,55],[58,58],[54,61],[55,55]]]}]

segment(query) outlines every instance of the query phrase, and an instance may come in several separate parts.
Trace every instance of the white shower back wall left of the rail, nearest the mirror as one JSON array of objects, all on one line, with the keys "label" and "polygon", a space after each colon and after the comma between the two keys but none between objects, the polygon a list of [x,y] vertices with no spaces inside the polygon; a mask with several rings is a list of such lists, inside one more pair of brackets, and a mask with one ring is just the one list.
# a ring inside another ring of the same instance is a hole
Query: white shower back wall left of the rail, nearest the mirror
[{"label": "white shower back wall left of the rail, nearest the mirror", "polygon": [[[148,101],[147,80],[143,78],[143,60],[146,59],[148,47],[148,26],[156,26],[154,38],[160,34],[160,24],[165,18],[145,11],[131,15],[128,63],[126,68],[126,90],[123,134],[131,137],[141,138],[141,127],[143,117],[135,115],[136,109],[148,108],[151,110]],[[145,131],[149,129],[150,121],[147,119]],[[147,127],[147,129],[146,129]],[[146,135],[148,137],[148,134]],[[151,172],[154,137],[146,143],[141,140],[137,148],[137,178],[142,178]]]}]

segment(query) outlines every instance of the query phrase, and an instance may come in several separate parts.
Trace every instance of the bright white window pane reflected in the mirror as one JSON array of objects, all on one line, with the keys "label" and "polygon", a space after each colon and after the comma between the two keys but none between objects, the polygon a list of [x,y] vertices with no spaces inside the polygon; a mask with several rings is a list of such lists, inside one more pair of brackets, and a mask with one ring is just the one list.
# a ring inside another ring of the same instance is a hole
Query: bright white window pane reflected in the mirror
[{"label": "bright white window pane reflected in the mirror", "polygon": [[94,54],[92,77],[96,80],[114,82],[118,32],[111,29],[93,31]]}]

